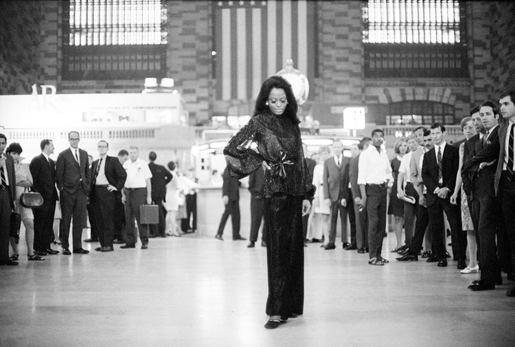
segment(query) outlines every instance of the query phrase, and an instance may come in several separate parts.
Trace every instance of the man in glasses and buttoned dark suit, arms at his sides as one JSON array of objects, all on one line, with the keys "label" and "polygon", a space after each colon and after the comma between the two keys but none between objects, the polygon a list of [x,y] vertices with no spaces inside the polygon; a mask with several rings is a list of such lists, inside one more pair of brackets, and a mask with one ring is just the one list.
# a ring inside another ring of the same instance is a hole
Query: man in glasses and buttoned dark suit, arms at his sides
[{"label": "man in glasses and buttoned dark suit, arms at his sides", "polygon": [[70,148],[59,153],[56,161],[56,183],[60,191],[62,212],[62,254],[70,255],[69,232],[73,217],[73,253],[88,254],[82,249],[82,229],[86,226],[87,201],[89,196],[88,153],[79,148],[77,131],[68,134]]}]

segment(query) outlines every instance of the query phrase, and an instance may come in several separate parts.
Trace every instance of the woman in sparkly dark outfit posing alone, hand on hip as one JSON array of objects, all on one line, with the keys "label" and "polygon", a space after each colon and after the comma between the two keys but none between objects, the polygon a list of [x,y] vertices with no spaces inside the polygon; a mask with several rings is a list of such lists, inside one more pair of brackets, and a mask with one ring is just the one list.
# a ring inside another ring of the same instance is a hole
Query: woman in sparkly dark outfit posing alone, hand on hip
[{"label": "woman in sparkly dark outfit posing alone, hand on hip", "polygon": [[268,300],[265,328],[277,328],[304,311],[304,230],[314,186],[302,149],[297,101],[280,76],[268,78],[249,123],[224,149],[227,168],[238,179],[265,166]]}]

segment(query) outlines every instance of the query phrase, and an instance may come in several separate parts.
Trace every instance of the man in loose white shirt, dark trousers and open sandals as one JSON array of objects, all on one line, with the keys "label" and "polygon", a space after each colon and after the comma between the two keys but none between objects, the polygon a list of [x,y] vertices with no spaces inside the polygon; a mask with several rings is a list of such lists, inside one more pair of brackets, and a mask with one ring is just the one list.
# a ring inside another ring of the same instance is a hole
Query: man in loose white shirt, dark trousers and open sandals
[{"label": "man in loose white shirt, dark trousers and open sandals", "polygon": [[388,182],[393,181],[391,166],[385,148],[382,148],[385,133],[372,131],[372,145],[363,150],[358,164],[358,184],[361,191],[360,208],[367,208],[369,264],[385,265],[381,256],[382,239],[387,218]]}]

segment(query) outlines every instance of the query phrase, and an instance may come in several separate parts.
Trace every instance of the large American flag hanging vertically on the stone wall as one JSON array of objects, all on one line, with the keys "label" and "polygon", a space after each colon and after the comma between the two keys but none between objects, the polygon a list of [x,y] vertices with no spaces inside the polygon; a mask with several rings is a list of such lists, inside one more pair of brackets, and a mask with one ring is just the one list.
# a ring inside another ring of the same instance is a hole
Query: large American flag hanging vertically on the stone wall
[{"label": "large American flag hanging vertically on the stone wall", "polygon": [[216,98],[253,100],[286,60],[314,76],[314,1],[214,3]]}]

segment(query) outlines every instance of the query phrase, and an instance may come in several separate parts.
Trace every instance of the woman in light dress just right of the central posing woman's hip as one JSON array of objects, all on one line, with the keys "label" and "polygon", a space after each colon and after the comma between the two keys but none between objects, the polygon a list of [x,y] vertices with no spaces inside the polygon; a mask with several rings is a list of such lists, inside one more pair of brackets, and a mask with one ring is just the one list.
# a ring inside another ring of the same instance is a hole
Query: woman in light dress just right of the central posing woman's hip
[{"label": "woman in light dress just right of the central posing woman's hip", "polygon": [[[329,240],[330,229],[330,213],[331,205],[323,199],[323,162],[330,156],[328,146],[321,146],[319,149],[319,157],[317,165],[313,170],[313,185],[317,187],[314,194],[312,213],[308,221],[308,240],[321,240],[324,237],[325,242]],[[322,245],[323,246],[323,245]]]}]

